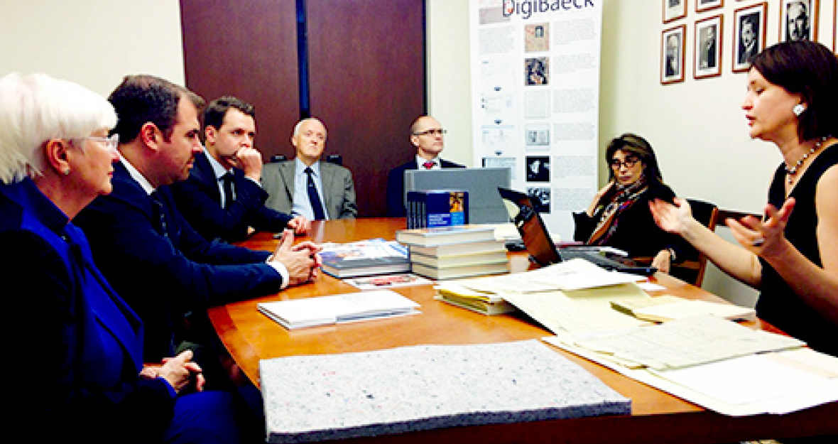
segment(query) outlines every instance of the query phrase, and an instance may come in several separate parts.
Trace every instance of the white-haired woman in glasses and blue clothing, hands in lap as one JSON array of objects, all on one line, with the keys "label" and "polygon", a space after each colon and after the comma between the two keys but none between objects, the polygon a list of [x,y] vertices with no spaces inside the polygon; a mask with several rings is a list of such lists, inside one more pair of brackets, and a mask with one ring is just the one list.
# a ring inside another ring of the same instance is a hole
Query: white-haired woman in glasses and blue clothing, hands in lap
[{"label": "white-haired woman in glasses and blue clothing, hands in lap", "polygon": [[[143,367],[142,323],[96,269],[70,220],[111,192],[116,113],[48,75],[0,79],[0,267],[12,390],[26,441],[236,442],[230,397],[201,392],[184,352]],[[22,363],[22,364],[21,364]],[[184,395],[185,393],[191,395]]]}]

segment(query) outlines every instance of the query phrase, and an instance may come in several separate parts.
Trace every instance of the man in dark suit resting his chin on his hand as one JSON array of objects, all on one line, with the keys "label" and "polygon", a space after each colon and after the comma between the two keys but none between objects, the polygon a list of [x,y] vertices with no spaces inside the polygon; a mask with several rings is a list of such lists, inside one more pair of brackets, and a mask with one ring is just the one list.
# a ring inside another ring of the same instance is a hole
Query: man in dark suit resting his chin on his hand
[{"label": "man in dark suit resting his chin on his hand", "polygon": [[204,152],[195,154],[189,178],[173,183],[178,210],[207,240],[244,240],[252,230],[308,231],[308,219],[265,206],[262,158],[253,147],[256,111],[236,97],[209,102],[204,111]]}]

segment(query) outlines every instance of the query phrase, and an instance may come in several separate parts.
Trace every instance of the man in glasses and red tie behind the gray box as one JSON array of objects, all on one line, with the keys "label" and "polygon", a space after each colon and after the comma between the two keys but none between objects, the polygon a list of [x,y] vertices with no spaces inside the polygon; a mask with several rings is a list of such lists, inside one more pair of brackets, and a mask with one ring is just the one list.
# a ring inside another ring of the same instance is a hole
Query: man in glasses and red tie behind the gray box
[{"label": "man in glasses and red tie behind the gray box", "polygon": [[465,168],[459,163],[439,157],[445,147],[445,130],[432,116],[420,116],[411,125],[411,143],[416,147],[416,158],[390,170],[387,175],[387,215],[404,217],[405,172],[409,169]]}]

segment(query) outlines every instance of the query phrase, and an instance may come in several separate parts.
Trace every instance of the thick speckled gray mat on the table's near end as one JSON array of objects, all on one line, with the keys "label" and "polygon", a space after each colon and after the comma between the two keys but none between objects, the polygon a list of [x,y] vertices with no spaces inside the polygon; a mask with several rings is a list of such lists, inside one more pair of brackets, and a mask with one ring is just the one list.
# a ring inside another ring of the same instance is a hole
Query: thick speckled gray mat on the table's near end
[{"label": "thick speckled gray mat on the table's near end", "polygon": [[266,359],[260,374],[277,443],[631,413],[537,340]]}]

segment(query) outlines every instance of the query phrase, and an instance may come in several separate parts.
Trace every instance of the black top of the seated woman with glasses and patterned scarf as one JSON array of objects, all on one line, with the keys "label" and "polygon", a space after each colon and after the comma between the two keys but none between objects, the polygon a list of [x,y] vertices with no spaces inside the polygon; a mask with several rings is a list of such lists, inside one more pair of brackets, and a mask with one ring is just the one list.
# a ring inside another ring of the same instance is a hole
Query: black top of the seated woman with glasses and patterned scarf
[{"label": "black top of the seated woman with glasses and patterned scarf", "polygon": [[[675,193],[665,184],[649,183],[649,188],[639,196],[637,202],[618,215],[617,229],[606,245],[626,251],[631,257],[654,257],[660,250],[672,248],[678,260],[677,256],[682,256],[684,250],[683,240],[678,235],[661,230],[654,223],[652,212],[649,210],[650,201],[661,199],[672,202],[674,197]],[[573,221],[576,223],[576,230],[573,233],[573,240],[587,242],[593,230],[596,229],[603,210],[604,206],[597,209],[593,217],[588,216],[584,211],[574,213]]]}]

